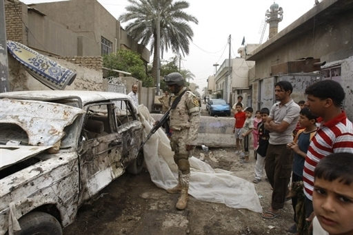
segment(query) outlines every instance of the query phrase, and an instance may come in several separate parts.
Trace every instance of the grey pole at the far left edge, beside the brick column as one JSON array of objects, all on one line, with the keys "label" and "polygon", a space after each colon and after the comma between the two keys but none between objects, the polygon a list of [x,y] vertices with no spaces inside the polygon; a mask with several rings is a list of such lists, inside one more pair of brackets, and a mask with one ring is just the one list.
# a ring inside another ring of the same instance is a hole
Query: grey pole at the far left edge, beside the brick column
[{"label": "grey pole at the far left edge, beside the brick column", "polygon": [[8,47],[6,45],[5,1],[0,0],[0,93],[9,92]]}]

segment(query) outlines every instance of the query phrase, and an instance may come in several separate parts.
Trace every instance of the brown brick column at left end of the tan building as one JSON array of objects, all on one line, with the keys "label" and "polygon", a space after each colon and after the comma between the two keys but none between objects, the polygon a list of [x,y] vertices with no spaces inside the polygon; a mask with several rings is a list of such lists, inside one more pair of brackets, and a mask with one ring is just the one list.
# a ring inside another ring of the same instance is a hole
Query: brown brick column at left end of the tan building
[{"label": "brown brick column at left end of the tan building", "polygon": [[[3,1],[3,0],[1,0]],[[5,1],[6,38],[23,43],[22,3]]]}]

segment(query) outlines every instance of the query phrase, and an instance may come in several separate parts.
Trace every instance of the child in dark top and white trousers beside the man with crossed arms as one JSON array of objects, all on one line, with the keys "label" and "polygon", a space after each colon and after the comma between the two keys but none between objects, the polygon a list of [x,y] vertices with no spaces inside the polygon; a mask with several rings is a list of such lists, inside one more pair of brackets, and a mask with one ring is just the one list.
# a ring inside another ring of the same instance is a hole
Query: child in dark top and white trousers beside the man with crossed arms
[{"label": "child in dark top and white trousers beside the man with crossed arms", "polygon": [[258,124],[259,143],[255,150],[259,156],[255,163],[255,178],[254,181],[252,181],[253,183],[259,183],[261,181],[263,170],[265,169],[265,156],[266,151],[268,150],[268,140],[270,139],[270,132],[265,129],[265,122],[268,120],[270,110],[268,108],[262,108],[260,114],[262,121]]}]

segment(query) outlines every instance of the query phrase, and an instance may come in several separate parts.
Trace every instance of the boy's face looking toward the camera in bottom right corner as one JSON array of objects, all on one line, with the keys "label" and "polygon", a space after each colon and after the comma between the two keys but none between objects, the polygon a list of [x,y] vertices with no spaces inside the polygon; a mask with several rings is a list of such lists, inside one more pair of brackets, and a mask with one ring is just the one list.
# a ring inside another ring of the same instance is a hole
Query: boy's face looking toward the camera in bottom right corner
[{"label": "boy's face looking toward the camera in bottom right corner", "polygon": [[347,152],[325,156],[314,170],[312,204],[314,235],[321,227],[330,235],[353,234],[353,154]]}]

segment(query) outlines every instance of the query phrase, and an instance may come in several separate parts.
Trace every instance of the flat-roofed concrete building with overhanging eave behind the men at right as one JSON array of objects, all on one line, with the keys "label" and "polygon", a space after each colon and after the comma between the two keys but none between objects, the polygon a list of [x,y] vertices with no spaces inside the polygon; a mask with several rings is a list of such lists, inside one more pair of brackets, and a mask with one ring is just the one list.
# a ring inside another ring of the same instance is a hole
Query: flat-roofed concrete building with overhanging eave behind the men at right
[{"label": "flat-roofed concrete building with overhanging eave behind the men at right", "polygon": [[321,79],[339,81],[343,109],[353,119],[353,1],[323,0],[247,56],[255,61],[252,107],[271,108],[274,84],[290,81],[292,99],[305,100],[307,85]]}]

